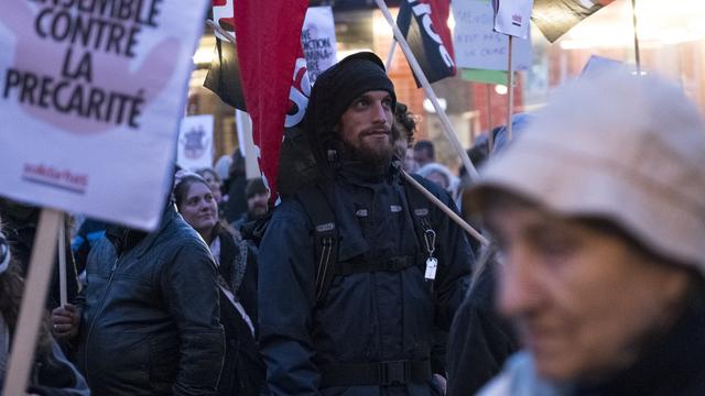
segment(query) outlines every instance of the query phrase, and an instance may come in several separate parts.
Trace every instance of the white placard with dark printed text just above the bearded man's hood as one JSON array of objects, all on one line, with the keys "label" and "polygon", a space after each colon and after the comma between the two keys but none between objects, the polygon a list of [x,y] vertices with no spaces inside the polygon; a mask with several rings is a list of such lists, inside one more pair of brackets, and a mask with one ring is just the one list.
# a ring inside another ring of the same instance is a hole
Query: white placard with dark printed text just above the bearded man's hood
[{"label": "white placard with dark printed text just above the bearded man's hood", "polygon": [[314,84],[319,74],[337,62],[335,21],[330,7],[308,8],[301,30],[301,44],[304,47],[308,78]]}]

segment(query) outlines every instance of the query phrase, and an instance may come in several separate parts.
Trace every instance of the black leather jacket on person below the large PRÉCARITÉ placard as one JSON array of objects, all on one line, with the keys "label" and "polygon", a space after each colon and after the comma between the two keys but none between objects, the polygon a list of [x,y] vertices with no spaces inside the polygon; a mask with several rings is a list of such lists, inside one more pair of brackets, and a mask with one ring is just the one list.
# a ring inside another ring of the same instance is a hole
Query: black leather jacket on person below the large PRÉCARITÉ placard
[{"label": "black leather jacket on person below the large PR\u00c9CARIT\u00c9 placard", "polygon": [[123,237],[88,256],[78,364],[91,391],[215,394],[225,345],[208,248],[171,206],[158,231]]}]

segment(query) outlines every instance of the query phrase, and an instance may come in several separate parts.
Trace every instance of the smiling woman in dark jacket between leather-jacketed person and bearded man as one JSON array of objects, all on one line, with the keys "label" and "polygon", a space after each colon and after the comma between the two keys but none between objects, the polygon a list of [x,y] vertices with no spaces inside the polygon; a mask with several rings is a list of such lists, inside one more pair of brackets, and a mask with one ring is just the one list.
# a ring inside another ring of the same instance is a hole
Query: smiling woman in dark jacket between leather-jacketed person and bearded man
[{"label": "smiling woman in dark jacket between leather-jacketed person and bearded man", "polygon": [[174,200],[184,220],[210,246],[218,265],[220,322],[226,356],[218,395],[258,395],[264,384],[264,365],[256,342],[257,264],[248,245],[218,221],[218,207],[206,182],[180,172]]}]

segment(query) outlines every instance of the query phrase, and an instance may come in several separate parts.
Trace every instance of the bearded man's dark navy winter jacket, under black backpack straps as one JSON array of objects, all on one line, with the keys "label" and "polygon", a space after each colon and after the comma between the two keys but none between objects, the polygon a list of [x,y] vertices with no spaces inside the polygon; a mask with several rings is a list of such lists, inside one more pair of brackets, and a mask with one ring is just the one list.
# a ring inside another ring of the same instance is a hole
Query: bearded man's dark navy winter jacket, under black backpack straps
[{"label": "bearded man's dark navy winter jacket, under black backpack straps", "polygon": [[[425,187],[447,205],[447,194]],[[260,348],[274,395],[434,395],[430,378],[392,386],[328,386],[339,364],[427,361],[434,323],[447,329],[466,292],[473,254],[464,232],[431,202],[438,273],[424,280],[425,248],[416,234],[406,186],[397,170],[380,176],[344,164],[324,187],[339,232],[338,262],[415,257],[400,271],[336,275],[316,301],[314,224],[296,199],[278,207],[260,246]],[[355,373],[352,373],[355,374]]]}]

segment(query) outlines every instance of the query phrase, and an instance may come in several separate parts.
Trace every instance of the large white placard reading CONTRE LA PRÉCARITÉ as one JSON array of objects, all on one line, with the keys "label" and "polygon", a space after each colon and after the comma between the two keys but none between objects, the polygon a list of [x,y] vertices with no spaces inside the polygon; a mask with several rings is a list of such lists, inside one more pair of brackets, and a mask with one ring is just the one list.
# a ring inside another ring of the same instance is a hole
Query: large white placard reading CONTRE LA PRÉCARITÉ
[{"label": "large white placard reading CONTRE LA PR\u00c9CARIT\u00c9", "polygon": [[206,2],[3,3],[0,195],[154,229]]}]

